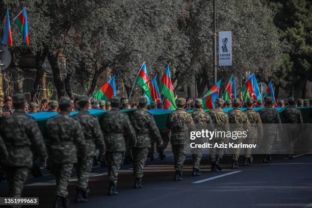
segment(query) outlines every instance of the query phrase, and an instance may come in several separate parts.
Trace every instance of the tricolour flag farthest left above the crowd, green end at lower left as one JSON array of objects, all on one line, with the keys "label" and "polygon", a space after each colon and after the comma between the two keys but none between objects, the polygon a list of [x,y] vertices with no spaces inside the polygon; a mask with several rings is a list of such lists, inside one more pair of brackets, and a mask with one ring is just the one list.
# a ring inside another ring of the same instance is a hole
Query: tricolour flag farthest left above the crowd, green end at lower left
[{"label": "tricolour flag farthest left above the crowd, green end at lower left", "polygon": [[116,96],[115,75],[92,95],[97,101],[109,102],[112,96]]}]

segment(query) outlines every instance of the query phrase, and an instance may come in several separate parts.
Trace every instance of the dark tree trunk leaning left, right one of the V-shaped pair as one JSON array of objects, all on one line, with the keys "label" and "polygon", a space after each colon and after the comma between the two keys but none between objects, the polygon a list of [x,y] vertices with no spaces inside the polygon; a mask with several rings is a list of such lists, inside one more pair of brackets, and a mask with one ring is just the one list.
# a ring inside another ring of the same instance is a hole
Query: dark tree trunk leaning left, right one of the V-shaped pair
[{"label": "dark tree trunk leaning left, right one of the V-shaped pair", "polygon": [[65,89],[65,84],[62,81],[61,75],[60,75],[60,69],[58,66],[58,54],[54,55],[54,54],[51,54],[50,51],[48,51],[47,58],[52,69],[53,81],[57,89],[58,98],[60,99],[62,96],[66,96],[66,89]]}]

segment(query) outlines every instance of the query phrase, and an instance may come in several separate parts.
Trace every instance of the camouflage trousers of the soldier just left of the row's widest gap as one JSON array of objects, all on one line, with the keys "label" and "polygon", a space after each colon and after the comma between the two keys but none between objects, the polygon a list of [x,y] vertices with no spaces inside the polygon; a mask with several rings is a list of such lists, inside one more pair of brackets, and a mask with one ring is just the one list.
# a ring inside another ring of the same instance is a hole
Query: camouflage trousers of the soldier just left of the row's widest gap
[{"label": "camouflage trousers of the soldier just left of the row's widest gap", "polygon": [[133,173],[136,178],[143,177],[143,168],[147,159],[148,147],[133,147]]}]

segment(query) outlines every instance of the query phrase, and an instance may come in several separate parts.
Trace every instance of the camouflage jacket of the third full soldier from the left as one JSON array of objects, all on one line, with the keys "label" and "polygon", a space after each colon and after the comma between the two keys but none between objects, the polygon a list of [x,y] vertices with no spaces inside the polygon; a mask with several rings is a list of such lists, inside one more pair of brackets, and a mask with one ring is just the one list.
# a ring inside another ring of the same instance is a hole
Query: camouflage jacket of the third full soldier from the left
[{"label": "camouflage jacket of the third full soldier from the left", "polygon": [[76,117],[82,127],[86,139],[86,151],[88,157],[96,155],[96,147],[100,152],[105,151],[105,142],[102,134],[101,127],[99,126],[96,116],[91,115],[88,111],[80,111]]}]

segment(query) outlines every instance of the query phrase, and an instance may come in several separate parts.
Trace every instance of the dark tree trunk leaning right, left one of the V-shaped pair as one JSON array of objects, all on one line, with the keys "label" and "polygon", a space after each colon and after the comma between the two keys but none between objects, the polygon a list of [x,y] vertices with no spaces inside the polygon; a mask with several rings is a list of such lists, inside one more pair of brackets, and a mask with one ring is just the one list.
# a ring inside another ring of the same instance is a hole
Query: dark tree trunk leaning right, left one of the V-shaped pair
[{"label": "dark tree trunk leaning right, left one of the V-shaped pair", "polygon": [[43,68],[42,64],[46,58],[46,50],[43,49],[38,51],[36,54],[36,77],[33,86],[33,90],[31,91],[31,102],[40,102],[40,88],[42,88],[42,77],[43,77]]}]

